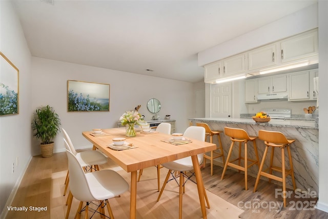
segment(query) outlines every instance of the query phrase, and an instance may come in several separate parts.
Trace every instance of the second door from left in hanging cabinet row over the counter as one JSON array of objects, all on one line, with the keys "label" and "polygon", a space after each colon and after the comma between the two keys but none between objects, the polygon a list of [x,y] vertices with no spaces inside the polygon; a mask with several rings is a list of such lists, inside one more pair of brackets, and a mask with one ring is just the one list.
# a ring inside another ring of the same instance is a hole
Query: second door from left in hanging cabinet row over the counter
[{"label": "second door from left in hanging cabinet row over the counter", "polygon": [[224,76],[230,76],[245,72],[245,54],[235,55],[222,60]]}]

